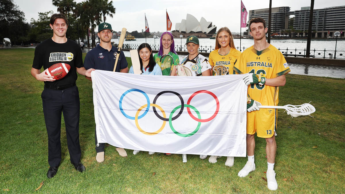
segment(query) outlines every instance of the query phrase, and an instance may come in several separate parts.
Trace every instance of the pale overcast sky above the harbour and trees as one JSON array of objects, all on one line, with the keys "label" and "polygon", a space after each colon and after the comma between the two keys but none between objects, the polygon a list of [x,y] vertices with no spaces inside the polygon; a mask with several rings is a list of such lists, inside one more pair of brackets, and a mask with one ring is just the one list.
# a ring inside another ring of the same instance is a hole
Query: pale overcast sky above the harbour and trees
[{"label": "pale overcast sky above the harbour and trees", "polygon": [[[325,2],[315,0],[314,9],[345,5],[344,0],[330,0],[327,4]],[[57,7],[52,5],[51,0],[14,0],[14,3],[25,13],[27,22],[30,22],[30,18],[38,19],[38,12],[52,10],[57,13]],[[269,7],[269,0],[243,0],[243,3],[247,11]],[[172,22],[171,30],[175,30],[175,24],[186,19],[189,13],[198,21],[204,17],[206,21],[216,25],[217,29],[226,26],[231,32],[240,31],[240,0],[113,0],[113,5],[116,14],[114,18],[107,17],[106,22],[116,31],[121,31],[122,28],[127,28],[129,32],[145,29],[145,13],[151,32],[166,31],[165,9]],[[282,6],[290,7],[290,11],[300,10],[301,7],[310,6],[310,1],[272,0],[272,7]],[[242,31],[244,30],[243,28]]]}]

